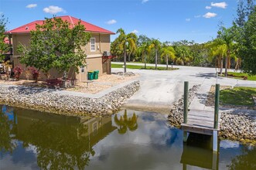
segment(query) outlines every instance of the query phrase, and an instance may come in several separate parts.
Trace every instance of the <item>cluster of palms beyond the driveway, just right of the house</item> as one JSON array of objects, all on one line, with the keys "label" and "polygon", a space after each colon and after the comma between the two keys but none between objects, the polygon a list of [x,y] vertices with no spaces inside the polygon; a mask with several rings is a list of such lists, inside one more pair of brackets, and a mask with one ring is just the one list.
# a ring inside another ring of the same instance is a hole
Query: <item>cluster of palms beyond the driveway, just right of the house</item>
[{"label": "cluster of palms beyond the driveway, just right of the house", "polygon": [[[118,56],[119,61],[124,61],[125,72],[127,59],[130,62],[158,63],[189,65],[193,62],[194,54],[192,46],[195,42],[186,40],[179,42],[160,42],[159,39],[151,39],[145,35],[136,36],[131,32],[126,34],[124,29],[118,29],[118,37],[111,43],[112,55]],[[128,58],[127,58],[128,57]]]}]

